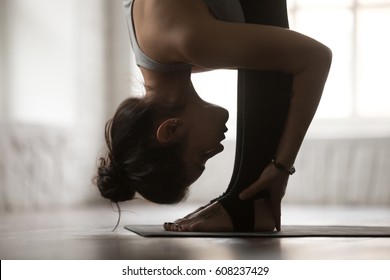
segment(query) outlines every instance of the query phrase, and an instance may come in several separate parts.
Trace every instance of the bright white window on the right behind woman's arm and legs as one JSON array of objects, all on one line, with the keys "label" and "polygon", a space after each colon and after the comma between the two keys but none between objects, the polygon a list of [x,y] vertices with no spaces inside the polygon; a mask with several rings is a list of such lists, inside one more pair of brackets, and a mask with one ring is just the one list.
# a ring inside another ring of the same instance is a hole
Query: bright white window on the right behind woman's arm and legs
[{"label": "bright white window on the right behind woman's arm and legs", "polygon": [[[356,134],[362,128],[364,134],[390,133],[390,0],[287,2],[290,28],[333,51],[332,69],[311,131],[326,133],[326,124],[344,133]],[[226,73],[212,74],[211,81],[206,78],[209,74],[202,74],[205,78],[197,78],[195,84],[206,100],[228,104],[233,117],[229,125],[234,125],[236,86],[233,74]],[[203,80],[207,85],[217,83],[223,93],[199,85]]]}]

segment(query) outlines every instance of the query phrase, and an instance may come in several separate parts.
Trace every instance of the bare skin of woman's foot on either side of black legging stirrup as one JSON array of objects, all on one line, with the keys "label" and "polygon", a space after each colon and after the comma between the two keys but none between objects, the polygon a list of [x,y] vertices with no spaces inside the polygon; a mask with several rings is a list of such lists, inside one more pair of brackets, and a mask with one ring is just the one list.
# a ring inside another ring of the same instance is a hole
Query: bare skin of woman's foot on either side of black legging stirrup
[{"label": "bare skin of woman's foot on either side of black legging stirrup", "polygon": [[[169,231],[234,231],[228,212],[218,201],[199,209],[174,223],[165,223],[164,229]],[[274,228],[275,222],[268,201],[256,200],[255,231],[272,231]]]}]

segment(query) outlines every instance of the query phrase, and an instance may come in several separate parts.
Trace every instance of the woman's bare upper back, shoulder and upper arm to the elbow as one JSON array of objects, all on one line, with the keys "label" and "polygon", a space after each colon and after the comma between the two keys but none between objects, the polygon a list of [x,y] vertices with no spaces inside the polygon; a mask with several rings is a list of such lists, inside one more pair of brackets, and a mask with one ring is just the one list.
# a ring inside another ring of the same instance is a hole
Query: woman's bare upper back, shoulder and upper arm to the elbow
[{"label": "woman's bare upper back, shoulder and upper arm to the elbow", "polygon": [[302,59],[323,48],[285,28],[216,20],[203,0],[137,2],[142,3],[134,6],[140,47],[162,63],[298,73]]}]

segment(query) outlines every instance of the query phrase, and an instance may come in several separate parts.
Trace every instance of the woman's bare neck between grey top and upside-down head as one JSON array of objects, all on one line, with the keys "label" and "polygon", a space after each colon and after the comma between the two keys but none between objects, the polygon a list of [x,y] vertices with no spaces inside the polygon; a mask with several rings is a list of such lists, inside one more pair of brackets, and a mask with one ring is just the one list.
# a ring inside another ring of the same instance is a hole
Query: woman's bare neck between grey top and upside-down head
[{"label": "woman's bare neck between grey top and upside-down head", "polygon": [[157,73],[142,69],[147,97],[158,96],[167,104],[182,104],[194,91],[191,71]]}]

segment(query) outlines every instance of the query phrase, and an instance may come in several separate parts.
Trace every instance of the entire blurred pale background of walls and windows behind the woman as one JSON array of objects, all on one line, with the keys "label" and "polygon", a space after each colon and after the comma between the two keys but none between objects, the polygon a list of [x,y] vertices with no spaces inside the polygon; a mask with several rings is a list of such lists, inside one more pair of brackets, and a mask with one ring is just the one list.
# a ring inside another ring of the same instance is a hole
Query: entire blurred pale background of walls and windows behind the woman
[{"label": "entire blurred pale background of walls and windows behind the woman", "polygon": [[[289,0],[290,27],[333,51],[285,203],[390,206],[390,0]],[[236,73],[196,74],[230,111],[225,152],[188,201],[230,180]],[[0,213],[107,203],[91,183],[104,124],[142,93],[121,0],[0,0]]]}]

